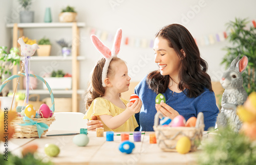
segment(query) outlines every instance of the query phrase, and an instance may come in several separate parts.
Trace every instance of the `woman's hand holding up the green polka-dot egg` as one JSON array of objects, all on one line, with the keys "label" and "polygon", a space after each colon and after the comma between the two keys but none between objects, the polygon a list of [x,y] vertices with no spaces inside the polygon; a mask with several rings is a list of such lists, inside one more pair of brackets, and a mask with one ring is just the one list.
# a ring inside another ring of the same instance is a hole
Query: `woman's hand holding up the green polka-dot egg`
[{"label": "woman's hand holding up the green polka-dot egg", "polygon": [[166,103],[161,102],[160,105],[156,104],[157,112],[161,112],[164,116],[169,117],[170,119],[174,119],[176,116],[180,114],[174,110],[174,108],[170,107]]}]

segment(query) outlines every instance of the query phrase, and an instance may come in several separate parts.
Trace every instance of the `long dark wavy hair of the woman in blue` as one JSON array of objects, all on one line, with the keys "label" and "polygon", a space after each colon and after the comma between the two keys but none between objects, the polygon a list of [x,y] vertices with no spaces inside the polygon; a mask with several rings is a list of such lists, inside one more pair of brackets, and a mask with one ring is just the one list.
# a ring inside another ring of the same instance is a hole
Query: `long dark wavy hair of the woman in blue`
[{"label": "long dark wavy hair of the woman in blue", "polygon": [[[155,38],[162,37],[168,41],[169,47],[174,48],[181,60],[181,70],[179,72],[179,90],[187,89],[188,97],[197,97],[204,92],[204,88],[211,88],[211,79],[207,72],[207,62],[200,57],[198,46],[188,32],[180,24],[170,24],[160,29]],[[181,52],[185,52],[185,57]],[[148,74],[146,81],[150,89],[157,94],[164,93],[169,84],[169,75],[161,75],[160,70]]]}]

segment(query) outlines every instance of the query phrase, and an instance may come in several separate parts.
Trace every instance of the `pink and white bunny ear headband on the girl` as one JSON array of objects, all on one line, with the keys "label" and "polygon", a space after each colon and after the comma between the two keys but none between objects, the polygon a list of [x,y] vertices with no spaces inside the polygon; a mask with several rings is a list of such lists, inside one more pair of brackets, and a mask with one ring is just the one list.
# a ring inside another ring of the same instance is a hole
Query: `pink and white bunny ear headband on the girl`
[{"label": "pink and white bunny ear headband on the girl", "polygon": [[119,53],[121,39],[122,39],[122,30],[121,29],[117,30],[112,50],[110,50],[106,45],[104,45],[97,36],[92,35],[91,39],[96,49],[99,50],[99,52],[106,59],[104,67],[102,69],[102,86],[106,87],[104,83],[104,79],[106,78],[106,74],[108,73],[108,68],[111,60],[114,57],[117,57],[117,54]]}]

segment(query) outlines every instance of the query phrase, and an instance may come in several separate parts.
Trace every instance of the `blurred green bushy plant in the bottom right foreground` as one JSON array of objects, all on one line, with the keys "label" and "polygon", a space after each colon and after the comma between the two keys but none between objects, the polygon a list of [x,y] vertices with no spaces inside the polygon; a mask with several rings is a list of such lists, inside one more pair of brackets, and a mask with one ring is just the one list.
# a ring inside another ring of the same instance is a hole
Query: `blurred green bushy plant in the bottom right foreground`
[{"label": "blurred green bushy plant in the bottom right foreground", "polygon": [[228,127],[218,133],[202,144],[202,152],[198,155],[199,164],[255,164],[256,146],[248,137]]}]

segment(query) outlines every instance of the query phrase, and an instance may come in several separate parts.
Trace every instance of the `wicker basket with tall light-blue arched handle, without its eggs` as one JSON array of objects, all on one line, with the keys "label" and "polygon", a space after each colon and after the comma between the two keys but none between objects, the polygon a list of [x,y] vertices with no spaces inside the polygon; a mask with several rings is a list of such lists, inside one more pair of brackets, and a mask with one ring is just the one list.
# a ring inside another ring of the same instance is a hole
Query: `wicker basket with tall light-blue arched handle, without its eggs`
[{"label": "wicker basket with tall light-blue arched handle, without its eggs", "polygon": [[[0,92],[3,90],[3,88],[6,86],[6,84],[11,81],[12,79],[14,78],[17,78],[17,77],[21,77],[21,76],[25,76],[24,73],[21,73],[21,74],[16,74],[16,75],[12,75],[11,77],[9,77],[8,79],[6,79],[2,86],[0,87]],[[36,77],[37,79],[41,80],[42,82],[45,83],[45,85],[47,86],[48,88],[48,91],[50,93],[50,96],[51,96],[51,100],[52,100],[52,106],[51,106],[51,111],[54,113],[54,97],[53,97],[53,94],[52,94],[52,90],[50,88],[50,86],[48,85],[48,83],[46,82],[46,80],[44,80],[42,77],[38,76],[38,75],[35,75],[35,74],[30,74],[29,76],[31,77]],[[33,118],[33,122],[34,123],[45,123],[48,125],[48,127],[52,124],[52,122],[55,121],[55,117],[54,115],[52,115],[51,118]],[[26,121],[27,123],[29,123],[29,121]],[[17,117],[15,118],[14,120],[11,121],[11,125],[14,127],[15,129],[15,132],[14,134],[12,135],[12,137],[14,138],[32,138],[32,137],[39,137],[38,136],[38,132],[37,132],[37,127],[36,125],[26,125],[26,126],[21,126],[19,124],[24,124],[25,121],[24,121],[24,118],[23,117]],[[48,131],[48,129],[44,130],[44,132],[41,134],[41,135],[44,135],[46,134],[46,132]]]}]

